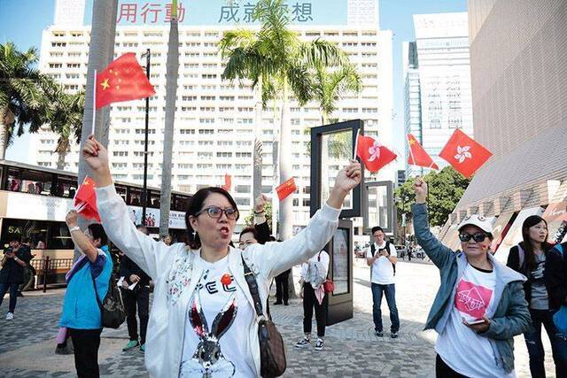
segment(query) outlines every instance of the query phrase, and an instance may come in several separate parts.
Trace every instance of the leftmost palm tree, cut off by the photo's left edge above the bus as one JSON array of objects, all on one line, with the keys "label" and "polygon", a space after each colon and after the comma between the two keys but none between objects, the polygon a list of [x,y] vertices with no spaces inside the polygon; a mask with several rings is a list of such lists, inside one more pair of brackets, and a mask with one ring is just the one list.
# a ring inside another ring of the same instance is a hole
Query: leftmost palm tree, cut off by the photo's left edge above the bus
[{"label": "leftmost palm tree, cut off by the photo's left edge above the bus", "polygon": [[25,125],[36,132],[49,116],[49,79],[35,68],[37,60],[35,48],[20,52],[12,42],[0,44],[0,158],[14,134],[22,135]]}]

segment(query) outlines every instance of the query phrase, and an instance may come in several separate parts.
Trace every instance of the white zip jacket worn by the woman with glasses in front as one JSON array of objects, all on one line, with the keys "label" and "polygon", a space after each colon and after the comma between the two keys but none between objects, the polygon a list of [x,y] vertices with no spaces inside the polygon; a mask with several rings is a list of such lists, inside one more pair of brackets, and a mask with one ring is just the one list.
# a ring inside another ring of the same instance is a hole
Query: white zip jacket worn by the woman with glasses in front
[{"label": "white zip jacket worn by the woman with glasses in front", "polygon": [[[114,185],[97,189],[97,206],[109,239],[149,274],[155,285],[146,336],[145,366],[148,373],[151,377],[177,377],[182,362],[189,301],[202,273],[197,266],[193,269],[193,259],[200,251],[190,250],[184,243],[167,246],[138,232]],[[245,281],[241,255],[256,274],[260,298],[265,304],[271,279],[321,251],[338,227],[339,213],[339,209],[325,204],[315,213],[307,228],[290,240],[252,244],[245,251],[229,249],[229,271],[252,309],[252,296]],[[256,374],[260,376],[258,322],[250,329],[248,337]]]}]

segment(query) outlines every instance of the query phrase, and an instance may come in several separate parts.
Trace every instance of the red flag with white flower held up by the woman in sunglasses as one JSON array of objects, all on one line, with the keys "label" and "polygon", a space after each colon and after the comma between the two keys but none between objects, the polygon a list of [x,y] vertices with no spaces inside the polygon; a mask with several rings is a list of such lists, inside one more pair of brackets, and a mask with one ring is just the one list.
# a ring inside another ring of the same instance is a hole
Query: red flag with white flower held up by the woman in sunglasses
[{"label": "red flag with white flower held up by the woman in sunglasses", "polygon": [[444,158],[454,167],[456,171],[465,177],[470,177],[477,172],[493,156],[492,152],[486,150],[480,143],[475,142],[460,129],[454,130],[439,157]]}]

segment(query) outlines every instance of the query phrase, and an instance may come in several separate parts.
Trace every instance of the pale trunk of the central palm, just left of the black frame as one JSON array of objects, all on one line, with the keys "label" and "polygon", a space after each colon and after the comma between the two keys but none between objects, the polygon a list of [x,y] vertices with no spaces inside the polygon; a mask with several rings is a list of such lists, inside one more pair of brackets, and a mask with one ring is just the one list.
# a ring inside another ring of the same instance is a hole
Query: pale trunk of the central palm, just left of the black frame
[{"label": "pale trunk of the central palm, just left of the black frame", "polygon": [[[288,82],[283,79],[282,120],[280,121],[280,183],[291,179],[291,122],[288,99]],[[293,235],[293,196],[280,203],[280,238],[290,239]]]}]

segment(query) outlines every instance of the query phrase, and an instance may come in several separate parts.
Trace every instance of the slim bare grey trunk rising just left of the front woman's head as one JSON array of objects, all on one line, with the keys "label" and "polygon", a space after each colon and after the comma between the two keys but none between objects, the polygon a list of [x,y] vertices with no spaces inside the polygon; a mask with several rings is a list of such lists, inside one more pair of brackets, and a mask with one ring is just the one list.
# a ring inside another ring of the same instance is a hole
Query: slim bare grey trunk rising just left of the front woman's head
[{"label": "slim bare grey trunk rising just left of the front woman's head", "polygon": [[[174,3],[175,4],[175,3]],[[159,195],[159,234],[169,234],[169,207],[171,204],[171,159],[174,146],[175,97],[179,72],[179,30],[172,18],[167,42],[166,129],[163,138],[161,166],[161,194]]]}]

